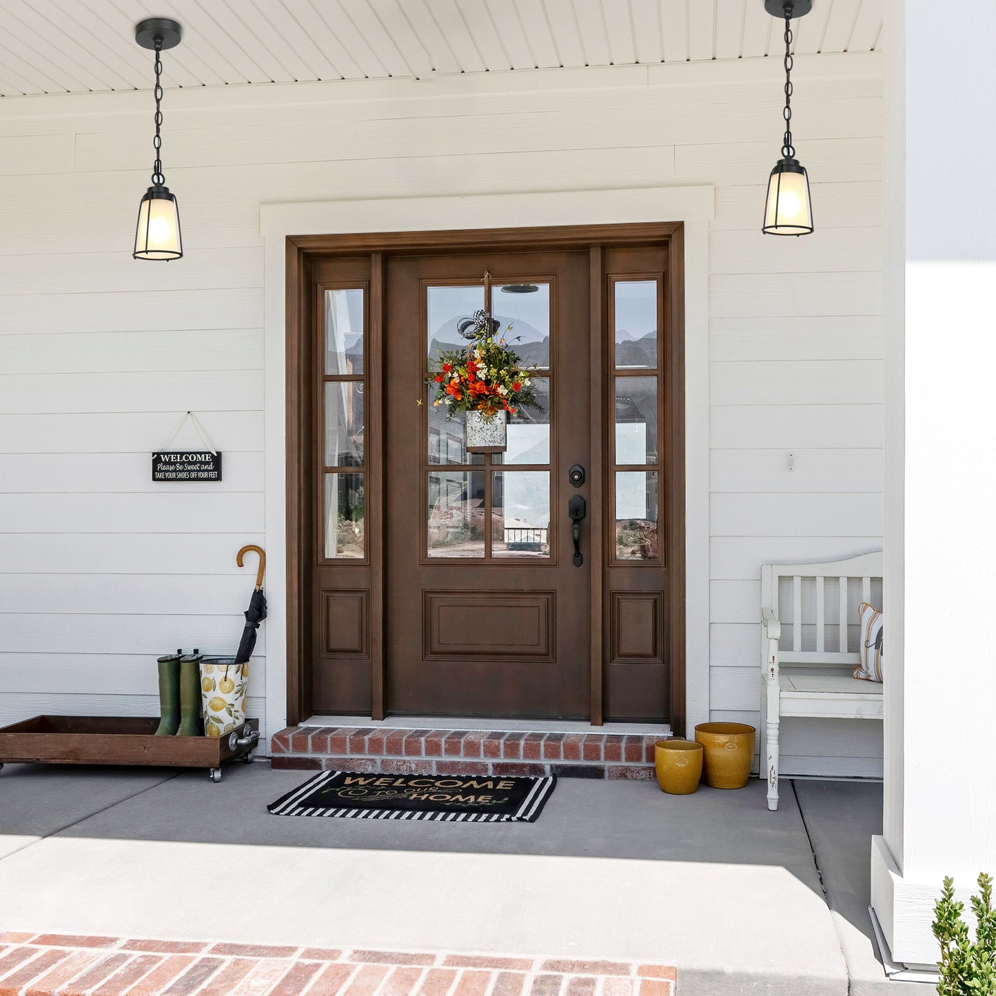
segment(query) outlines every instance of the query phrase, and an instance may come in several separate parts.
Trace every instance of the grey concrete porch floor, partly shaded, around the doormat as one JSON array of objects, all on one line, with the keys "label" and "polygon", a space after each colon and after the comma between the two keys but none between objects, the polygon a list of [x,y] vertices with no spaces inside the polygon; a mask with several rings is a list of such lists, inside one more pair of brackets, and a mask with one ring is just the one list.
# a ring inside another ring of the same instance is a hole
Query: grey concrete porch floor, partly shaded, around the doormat
[{"label": "grey concrete porch floor, partly shaded, around the doormat", "polygon": [[617,958],[681,996],[927,996],[871,939],[881,787],[562,779],[536,824],[274,817],[306,772],[7,766],[0,932]]}]

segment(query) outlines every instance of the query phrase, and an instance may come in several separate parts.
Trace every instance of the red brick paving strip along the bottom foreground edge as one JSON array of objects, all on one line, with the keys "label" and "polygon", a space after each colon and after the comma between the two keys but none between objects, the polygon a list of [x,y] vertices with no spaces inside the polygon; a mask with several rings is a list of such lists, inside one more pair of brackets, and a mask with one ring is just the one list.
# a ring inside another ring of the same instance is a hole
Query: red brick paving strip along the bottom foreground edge
[{"label": "red brick paving strip along the bottom foreground edge", "polygon": [[669,965],[0,933],[0,996],[674,996]]}]

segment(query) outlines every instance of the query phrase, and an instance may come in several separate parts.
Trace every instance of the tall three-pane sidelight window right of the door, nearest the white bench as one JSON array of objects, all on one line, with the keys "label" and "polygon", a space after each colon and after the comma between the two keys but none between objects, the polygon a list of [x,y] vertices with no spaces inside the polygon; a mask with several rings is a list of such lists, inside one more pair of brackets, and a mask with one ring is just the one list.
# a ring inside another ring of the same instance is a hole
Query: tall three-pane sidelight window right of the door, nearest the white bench
[{"label": "tall three-pane sidelight window right of the door, nearest the white bench", "polygon": [[659,562],[659,278],[612,282],[615,560]]}]

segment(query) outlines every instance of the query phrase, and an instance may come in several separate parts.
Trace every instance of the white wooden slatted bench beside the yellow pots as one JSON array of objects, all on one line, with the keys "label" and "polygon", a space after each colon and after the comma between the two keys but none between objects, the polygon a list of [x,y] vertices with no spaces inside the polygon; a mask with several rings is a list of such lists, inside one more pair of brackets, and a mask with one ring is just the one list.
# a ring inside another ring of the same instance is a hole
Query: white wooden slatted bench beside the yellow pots
[{"label": "white wooden slatted bench beside the yellow pots", "polygon": [[778,809],[783,716],[881,719],[882,686],[854,677],[858,606],[870,602],[881,609],[881,563],[877,551],[761,568],[761,764],[769,810]]}]

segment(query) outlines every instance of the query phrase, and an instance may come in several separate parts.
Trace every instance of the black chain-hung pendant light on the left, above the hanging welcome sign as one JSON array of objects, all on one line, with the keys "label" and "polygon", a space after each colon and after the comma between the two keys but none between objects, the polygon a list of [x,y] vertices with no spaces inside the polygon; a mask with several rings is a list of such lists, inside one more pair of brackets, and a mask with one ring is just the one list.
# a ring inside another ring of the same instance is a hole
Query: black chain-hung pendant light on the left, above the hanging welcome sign
[{"label": "black chain-hung pendant light on the left, above the hanging welcome sign", "polygon": [[176,196],[169,192],[162,175],[160,149],[162,138],[162,60],[159,54],[175,48],[180,43],[180,26],[166,17],[149,17],[134,26],[134,40],[143,48],[155,53],[155,162],[152,166],[152,185],[138,204],[138,224],[134,233],[134,259],[180,259],[183,240],[180,238],[180,212]]}]

